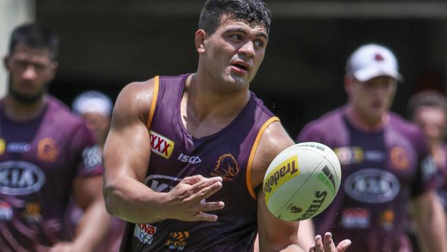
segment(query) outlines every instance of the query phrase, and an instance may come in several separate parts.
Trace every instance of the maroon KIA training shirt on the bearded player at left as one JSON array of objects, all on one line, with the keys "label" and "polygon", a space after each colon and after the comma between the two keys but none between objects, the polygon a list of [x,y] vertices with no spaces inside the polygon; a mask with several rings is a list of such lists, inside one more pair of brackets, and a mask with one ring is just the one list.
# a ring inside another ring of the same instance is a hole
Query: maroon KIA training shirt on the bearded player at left
[{"label": "maroon KIA training shirt on the bearded player at left", "polygon": [[83,120],[46,97],[36,118],[10,120],[0,101],[0,250],[38,251],[64,240],[63,216],[76,176],[102,174]]}]

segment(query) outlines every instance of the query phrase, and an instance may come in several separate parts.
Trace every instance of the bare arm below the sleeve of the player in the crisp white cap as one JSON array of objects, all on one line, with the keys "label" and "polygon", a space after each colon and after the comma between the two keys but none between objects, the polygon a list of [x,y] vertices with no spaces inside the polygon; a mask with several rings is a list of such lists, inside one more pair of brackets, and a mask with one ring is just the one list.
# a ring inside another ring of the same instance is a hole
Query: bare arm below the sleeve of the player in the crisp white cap
[{"label": "bare arm below the sleeve of the player in the crisp white cap", "polygon": [[419,246],[424,251],[447,251],[445,213],[435,191],[415,198],[413,207]]}]

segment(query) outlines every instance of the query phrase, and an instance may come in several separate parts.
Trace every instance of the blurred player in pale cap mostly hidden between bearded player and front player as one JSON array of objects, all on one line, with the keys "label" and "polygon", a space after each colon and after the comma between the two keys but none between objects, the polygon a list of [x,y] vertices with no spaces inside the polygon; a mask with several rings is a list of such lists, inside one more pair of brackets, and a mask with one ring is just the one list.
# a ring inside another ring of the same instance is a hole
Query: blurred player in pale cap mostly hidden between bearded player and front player
[{"label": "blurred player in pale cap mostly hidden between bearded player and front player", "polygon": [[[87,123],[87,127],[94,132],[100,149],[104,149],[105,138],[110,128],[111,112],[113,103],[110,98],[98,91],[87,91],[77,96],[73,103],[73,111],[82,116]],[[68,211],[69,225],[76,227],[83,211],[71,202]],[[112,217],[105,238],[96,246],[98,252],[116,252],[120,248],[122,234],[125,223],[119,218]],[[73,229],[72,229],[73,231]]]}]

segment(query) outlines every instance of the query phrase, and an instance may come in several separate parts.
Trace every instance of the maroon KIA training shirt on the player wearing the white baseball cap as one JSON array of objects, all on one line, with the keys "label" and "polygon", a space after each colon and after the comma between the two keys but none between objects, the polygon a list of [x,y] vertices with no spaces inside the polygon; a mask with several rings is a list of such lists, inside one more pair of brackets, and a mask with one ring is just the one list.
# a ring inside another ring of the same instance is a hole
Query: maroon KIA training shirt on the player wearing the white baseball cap
[{"label": "maroon KIA training shirt on the player wearing the white baseball cap", "polygon": [[352,125],[345,108],[309,123],[297,142],[323,143],[342,169],[334,201],[314,218],[317,233],[349,238],[351,251],[397,251],[407,227],[408,202],[435,187],[433,159],[422,132],[397,114],[376,132]]}]

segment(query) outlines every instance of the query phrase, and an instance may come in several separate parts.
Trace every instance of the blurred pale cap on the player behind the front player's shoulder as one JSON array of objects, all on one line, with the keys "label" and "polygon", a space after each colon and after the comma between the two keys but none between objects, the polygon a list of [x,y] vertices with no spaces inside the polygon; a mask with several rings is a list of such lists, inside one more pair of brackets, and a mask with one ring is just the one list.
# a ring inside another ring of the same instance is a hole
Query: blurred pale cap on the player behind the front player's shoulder
[{"label": "blurred pale cap on the player behind the front player's shoulder", "polygon": [[113,104],[108,96],[98,91],[87,91],[76,97],[72,109],[77,114],[94,112],[110,116]]}]

